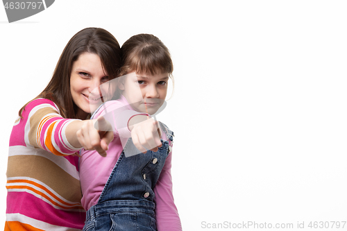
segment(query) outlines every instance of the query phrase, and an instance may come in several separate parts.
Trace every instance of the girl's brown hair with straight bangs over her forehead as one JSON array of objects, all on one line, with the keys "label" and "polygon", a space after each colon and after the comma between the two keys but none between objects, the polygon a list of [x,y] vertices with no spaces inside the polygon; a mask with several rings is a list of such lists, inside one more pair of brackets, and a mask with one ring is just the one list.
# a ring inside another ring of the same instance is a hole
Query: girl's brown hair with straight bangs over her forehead
[{"label": "girl's brown hair with straight bangs over her forehead", "polygon": [[174,71],[169,49],[154,35],[139,34],[130,37],[121,46],[121,53],[121,76],[130,71],[151,75],[171,75]]}]

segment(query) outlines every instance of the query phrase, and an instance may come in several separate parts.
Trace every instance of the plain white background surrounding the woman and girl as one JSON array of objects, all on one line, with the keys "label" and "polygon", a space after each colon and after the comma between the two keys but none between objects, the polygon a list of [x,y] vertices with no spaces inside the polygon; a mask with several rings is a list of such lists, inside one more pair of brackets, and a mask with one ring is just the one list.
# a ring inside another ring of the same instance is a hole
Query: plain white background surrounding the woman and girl
[{"label": "plain white background surrounding the woman and girl", "polygon": [[172,174],[184,230],[208,230],[204,221],[347,221],[346,8],[57,0],[8,24],[0,7],[0,225],[17,112],[49,82],[69,39],[90,26],[120,44],[152,33],[171,51],[176,91],[158,119],[176,135]]}]

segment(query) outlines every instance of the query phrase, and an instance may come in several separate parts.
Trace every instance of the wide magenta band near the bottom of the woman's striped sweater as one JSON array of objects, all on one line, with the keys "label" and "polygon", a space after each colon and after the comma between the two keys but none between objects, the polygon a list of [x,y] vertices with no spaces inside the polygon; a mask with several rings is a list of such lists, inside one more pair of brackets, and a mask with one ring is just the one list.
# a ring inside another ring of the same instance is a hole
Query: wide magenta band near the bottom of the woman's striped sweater
[{"label": "wide magenta band near the bottom of the woman's striped sweater", "polygon": [[55,209],[40,198],[26,192],[9,191],[6,214],[19,213],[51,225],[83,229],[85,212]]}]

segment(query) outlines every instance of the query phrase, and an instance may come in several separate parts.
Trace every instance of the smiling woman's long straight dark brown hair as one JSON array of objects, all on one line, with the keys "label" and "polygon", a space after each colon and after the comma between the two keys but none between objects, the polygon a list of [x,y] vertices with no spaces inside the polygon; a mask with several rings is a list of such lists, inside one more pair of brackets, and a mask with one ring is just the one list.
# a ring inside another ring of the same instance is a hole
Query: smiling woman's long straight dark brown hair
[{"label": "smiling woman's long straight dark brown hair", "polygon": [[[103,28],[85,28],[71,37],[60,55],[51,81],[35,98],[50,99],[58,105],[62,117],[67,119],[81,119],[77,118],[78,107],[72,100],[70,76],[74,62],[85,52],[99,55],[109,79],[116,78],[121,67],[119,43],[108,31]],[[22,117],[25,106],[19,110],[19,117]]]}]

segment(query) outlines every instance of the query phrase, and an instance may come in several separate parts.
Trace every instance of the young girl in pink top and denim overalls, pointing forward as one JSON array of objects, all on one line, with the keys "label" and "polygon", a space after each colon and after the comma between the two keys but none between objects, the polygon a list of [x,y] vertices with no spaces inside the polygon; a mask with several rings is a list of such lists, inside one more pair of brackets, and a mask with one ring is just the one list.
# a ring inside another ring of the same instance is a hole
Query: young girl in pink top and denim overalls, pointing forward
[{"label": "young girl in pink top and denim overalls, pointing forward", "polygon": [[[174,135],[160,123],[160,141],[158,123],[148,119],[167,95],[173,71],[169,51],[158,37],[147,34],[130,37],[121,51],[121,74],[126,77],[118,81],[120,99],[106,102],[92,117],[115,112],[115,139],[106,157],[81,151],[81,202],[87,210],[83,230],[182,230],[172,194]],[[143,153],[127,156],[124,137],[131,137],[126,147],[132,139]]]}]

